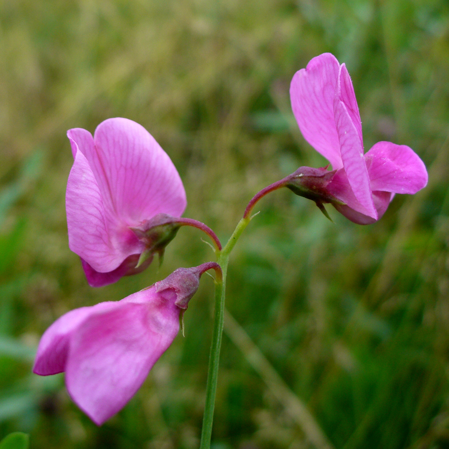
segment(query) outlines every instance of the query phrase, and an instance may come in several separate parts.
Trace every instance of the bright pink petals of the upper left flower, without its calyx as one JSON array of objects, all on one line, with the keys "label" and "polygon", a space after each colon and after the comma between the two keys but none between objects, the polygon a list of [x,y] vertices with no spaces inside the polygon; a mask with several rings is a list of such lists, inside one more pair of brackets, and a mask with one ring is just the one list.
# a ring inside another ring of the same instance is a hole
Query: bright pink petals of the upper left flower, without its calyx
[{"label": "bright pink petals of the upper left flower, without its calyx", "polygon": [[180,217],[186,193],[172,161],[141,125],[112,118],[94,137],[67,132],[75,159],[67,182],[70,249],[81,257],[90,285],[99,287],[143,270],[136,268],[147,243],[134,229],[158,214]]}]

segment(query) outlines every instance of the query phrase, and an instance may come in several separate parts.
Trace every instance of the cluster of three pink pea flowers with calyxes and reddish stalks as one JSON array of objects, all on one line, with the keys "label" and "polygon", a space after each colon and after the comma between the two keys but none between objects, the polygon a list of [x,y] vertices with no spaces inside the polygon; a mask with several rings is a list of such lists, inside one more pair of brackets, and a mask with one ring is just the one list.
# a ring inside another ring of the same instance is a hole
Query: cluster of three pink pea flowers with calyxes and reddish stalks
[{"label": "cluster of three pink pea flowers with calyxes and reddish stalks", "polygon": [[[333,55],[317,56],[299,70],[290,95],[304,138],[332,170],[300,167],[263,189],[249,202],[245,223],[255,203],[280,187],[313,200],[326,214],[323,205],[331,204],[354,223],[369,224],[382,217],[396,193],[426,186],[426,168],[411,148],[378,142],[364,153],[351,78]],[[181,225],[205,231],[220,253],[212,229],[181,217],[187,204],[181,178],[142,126],[114,118],[94,136],[79,128],[67,135],[74,158],[66,193],[69,247],[91,286],[144,270],[156,253],[162,258]],[[216,262],[179,268],[121,301],[66,313],[43,334],[34,373],[65,372],[74,402],[101,425],[125,406],[172,344],[200,276],[211,268],[220,279]]]}]

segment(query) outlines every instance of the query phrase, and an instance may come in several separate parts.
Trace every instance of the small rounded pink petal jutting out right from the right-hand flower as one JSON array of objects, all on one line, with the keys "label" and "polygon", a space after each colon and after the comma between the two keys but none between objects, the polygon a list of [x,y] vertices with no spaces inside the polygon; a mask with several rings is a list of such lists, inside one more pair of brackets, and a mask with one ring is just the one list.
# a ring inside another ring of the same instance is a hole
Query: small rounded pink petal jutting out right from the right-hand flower
[{"label": "small rounded pink petal jutting out right from the right-hand flower", "polygon": [[365,155],[373,190],[415,194],[427,185],[426,167],[406,145],[378,142]]}]

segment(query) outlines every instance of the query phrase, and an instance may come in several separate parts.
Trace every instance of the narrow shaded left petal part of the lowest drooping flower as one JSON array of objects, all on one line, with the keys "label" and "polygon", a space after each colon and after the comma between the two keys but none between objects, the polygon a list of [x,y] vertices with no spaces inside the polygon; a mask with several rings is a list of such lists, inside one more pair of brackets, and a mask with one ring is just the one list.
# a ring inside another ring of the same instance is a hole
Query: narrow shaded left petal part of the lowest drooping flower
[{"label": "narrow shaded left petal part of the lowest drooping flower", "polygon": [[65,371],[72,333],[78,325],[92,313],[92,309],[107,309],[115,302],[102,302],[94,307],[81,307],[71,310],[57,319],[42,335],[37,348],[33,373],[40,376]]}]

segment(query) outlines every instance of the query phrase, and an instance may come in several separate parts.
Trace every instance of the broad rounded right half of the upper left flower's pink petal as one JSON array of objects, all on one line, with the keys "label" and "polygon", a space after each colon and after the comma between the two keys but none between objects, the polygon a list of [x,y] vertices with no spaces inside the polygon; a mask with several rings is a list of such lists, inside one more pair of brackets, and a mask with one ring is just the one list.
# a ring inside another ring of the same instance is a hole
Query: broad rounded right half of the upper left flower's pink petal
[{"label": "broad rounded right half of the upper left flower's pink petal", "polygon": [[159,213],[182,215],[187,203],[181,178],[145,128],[108,119],[97,127],[94,142],[95,152],[86,157],[108,213],[127,226]]}]

